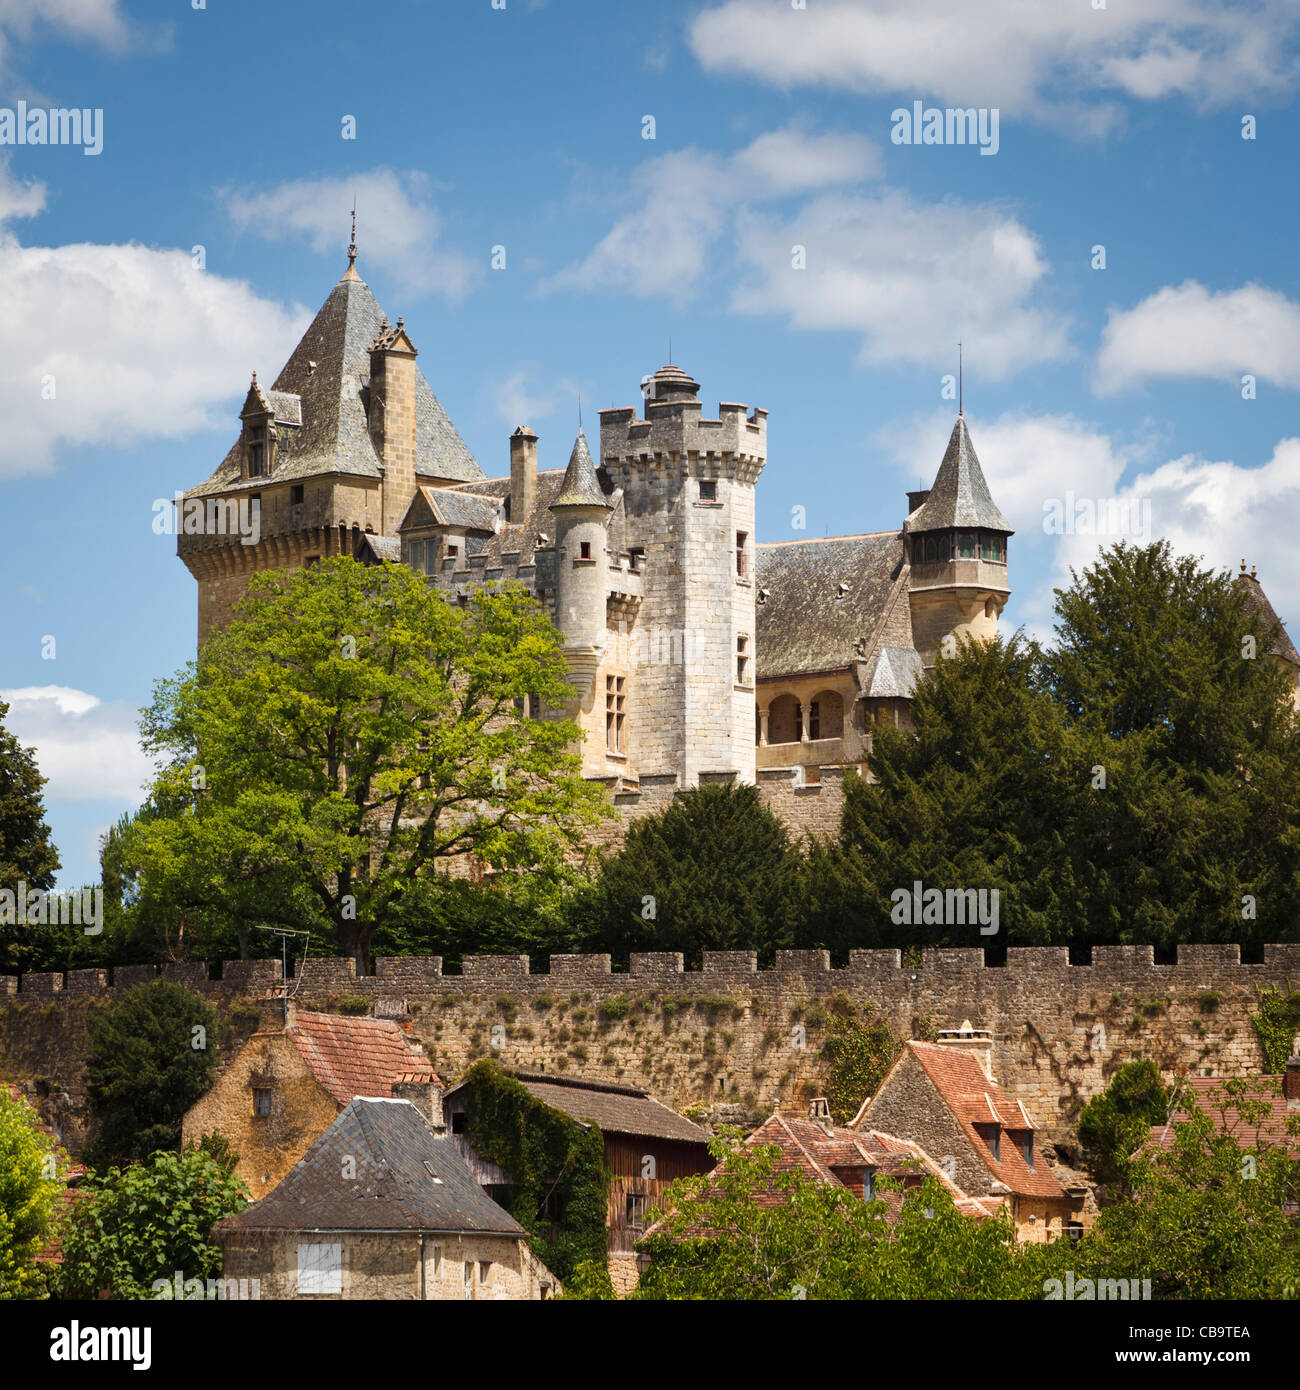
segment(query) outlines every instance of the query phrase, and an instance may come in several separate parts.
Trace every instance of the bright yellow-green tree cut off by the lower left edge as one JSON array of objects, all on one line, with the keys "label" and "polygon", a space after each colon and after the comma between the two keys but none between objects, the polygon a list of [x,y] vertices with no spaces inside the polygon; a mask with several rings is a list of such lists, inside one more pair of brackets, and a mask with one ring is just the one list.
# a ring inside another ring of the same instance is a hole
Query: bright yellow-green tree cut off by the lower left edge
[{"label": "bright yellow-green tree cut off by the lower left edge", "polygon": [[36,1254],[49,1238],[65,1170],[36,1112],[0,1086],[0,1300],[44,1297]]}]

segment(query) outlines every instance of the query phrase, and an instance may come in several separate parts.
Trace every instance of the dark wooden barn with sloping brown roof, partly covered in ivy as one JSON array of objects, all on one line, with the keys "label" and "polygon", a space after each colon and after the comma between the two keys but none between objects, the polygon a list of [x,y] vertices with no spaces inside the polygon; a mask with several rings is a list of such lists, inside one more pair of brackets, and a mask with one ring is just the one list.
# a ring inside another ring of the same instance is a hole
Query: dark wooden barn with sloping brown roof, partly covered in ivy
[{"label": "dark wooden barn with sloping brown roof, partly covered in ivy", "polygon": [[[584,1127],[599,1129],[609,1172],[610,1277],[620,1291],[631,1287],[637,1280],[633,1247],[645,1233],[647,1212],[674,1179],[709,1172],[713,1166],[709,1134],[635,1086],[549,1072],[510,1074],[544,1105]],[[450,1087],[442,1104],[452,1144],[488,1191],[509,1200],[510,1175],[476,1154],[466,1137],[474,1111],[474,1083]],[[560,1219],[563,1213],[556,1208],[551,1215]]]}]

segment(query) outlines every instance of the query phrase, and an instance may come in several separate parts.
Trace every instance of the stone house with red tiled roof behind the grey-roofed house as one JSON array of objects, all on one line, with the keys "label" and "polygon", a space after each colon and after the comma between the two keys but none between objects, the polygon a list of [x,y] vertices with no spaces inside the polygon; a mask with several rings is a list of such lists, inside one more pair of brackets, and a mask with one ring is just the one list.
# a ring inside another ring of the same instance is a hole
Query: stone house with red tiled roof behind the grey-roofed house
[{"label": "stone house with red tiled roof behind the grey-roofed house", "polygon": [[357,1095],[417,1101],[441,1125],[441,1081],[428,1056],[391,1019],[309,1013],[268,1004],[263,1026],[185,1112],[184,1144],[218,1133],[239,1155],[256,1200],[307,1152]]}]

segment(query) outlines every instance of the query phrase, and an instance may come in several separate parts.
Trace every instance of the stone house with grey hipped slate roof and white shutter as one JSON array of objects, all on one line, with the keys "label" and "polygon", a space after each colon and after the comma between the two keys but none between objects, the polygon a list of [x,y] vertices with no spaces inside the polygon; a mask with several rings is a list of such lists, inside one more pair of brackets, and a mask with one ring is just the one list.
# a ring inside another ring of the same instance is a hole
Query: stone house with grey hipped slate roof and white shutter
[{"label": "stone house with grey hipped slate roof and white shutter", "polygon": [[527,1233],[410,1102],[350,1101],[288,1177],[213,1227],[222,1277],[263,1298],[537,1300]]}]

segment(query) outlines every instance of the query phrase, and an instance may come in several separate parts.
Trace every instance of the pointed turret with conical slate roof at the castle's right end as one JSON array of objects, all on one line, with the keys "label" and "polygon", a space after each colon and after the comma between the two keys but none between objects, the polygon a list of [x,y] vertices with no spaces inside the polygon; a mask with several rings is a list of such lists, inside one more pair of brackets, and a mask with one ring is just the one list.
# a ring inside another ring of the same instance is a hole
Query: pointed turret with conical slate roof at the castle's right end
[{"label": "pointed turret with conical slate roof at the castle's right end", "polygon": [[934,485],[909,492],[908,510],[912,634],[929,669],[936,652],[952,655],[962,635],[996,637],[1011,596],[1007,538],[1014,532],[989,491],[965,416],[952,425]]}]

